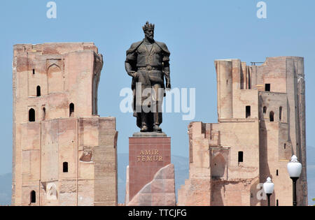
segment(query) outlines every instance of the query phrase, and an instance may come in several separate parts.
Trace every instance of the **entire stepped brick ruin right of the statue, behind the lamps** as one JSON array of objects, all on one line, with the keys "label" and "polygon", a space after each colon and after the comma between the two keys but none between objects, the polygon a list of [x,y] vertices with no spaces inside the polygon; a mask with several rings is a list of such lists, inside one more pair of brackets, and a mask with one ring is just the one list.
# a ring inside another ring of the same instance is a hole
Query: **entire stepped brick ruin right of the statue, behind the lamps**
[{"label": "entire stepped brick ruin right of the statue, behind the lamps", "polygon": [[[297,204],[307,205],[305,83],[302,57],[270,57],[261,66],[216,60],[218,123],[192,122],[190,177],[178,205],[267,205],[260,183],[272,177],[271,205],[292,205],[290,156],[302,174]],[[258,195],[258,196],[257,196]]]}]

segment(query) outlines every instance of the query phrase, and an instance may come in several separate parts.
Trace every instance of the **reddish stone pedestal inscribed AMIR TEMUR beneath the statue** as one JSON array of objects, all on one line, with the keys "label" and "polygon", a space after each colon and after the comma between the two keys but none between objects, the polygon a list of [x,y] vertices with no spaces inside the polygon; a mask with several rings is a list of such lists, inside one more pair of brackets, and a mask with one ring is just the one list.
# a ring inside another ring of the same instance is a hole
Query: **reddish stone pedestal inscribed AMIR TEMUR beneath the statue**
[{"label": "reddish stone pedestal inscribed AMIR TEMUR beneath the statue", "polygon": [[171,138],[165,133],[135,133],[129,139],[128,173],[127,203],[176,205]]}]

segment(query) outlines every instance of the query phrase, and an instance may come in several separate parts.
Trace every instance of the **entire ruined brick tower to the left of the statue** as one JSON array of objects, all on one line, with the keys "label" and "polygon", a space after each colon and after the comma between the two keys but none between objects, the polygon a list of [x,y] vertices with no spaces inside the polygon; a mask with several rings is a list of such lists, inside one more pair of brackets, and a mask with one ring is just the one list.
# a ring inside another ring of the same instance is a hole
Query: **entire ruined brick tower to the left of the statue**
[{"label": "entire ruined brick tower to the left of the statue", "polygon": [[94,43],[14,46],[12,205],[117,205],[116,119]]}]

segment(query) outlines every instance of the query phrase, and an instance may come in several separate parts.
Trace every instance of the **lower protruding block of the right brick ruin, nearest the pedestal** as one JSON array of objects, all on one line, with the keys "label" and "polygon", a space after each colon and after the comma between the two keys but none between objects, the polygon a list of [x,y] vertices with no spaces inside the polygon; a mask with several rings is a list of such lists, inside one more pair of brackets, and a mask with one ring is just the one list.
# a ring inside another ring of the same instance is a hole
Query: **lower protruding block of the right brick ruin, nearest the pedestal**
[{"label": "lower protruding block of the right brick ruin, nearest the pedestal", "polygon": [[[256,135],[249,138],[247,145],[240,145],[244,140],[231,136],[233,131],[238,131],[239,136],[246,133],[239,129],[241,124],[190,124],[190,178],[179,189],[179,205],[258,205],[255,197],[259,183],[258,122],[248,124]],[[209,145],[214,140],[219,140],[219,145]],[[244,151],[242,163],[237,159],[240,150]],[[257,156],[252,156],[253,152]]]}]

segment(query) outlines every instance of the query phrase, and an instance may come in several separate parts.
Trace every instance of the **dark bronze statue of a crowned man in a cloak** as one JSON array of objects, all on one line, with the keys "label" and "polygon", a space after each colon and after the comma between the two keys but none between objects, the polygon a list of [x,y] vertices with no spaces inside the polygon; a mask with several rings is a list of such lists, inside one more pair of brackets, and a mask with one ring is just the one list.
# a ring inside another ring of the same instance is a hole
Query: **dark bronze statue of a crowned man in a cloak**
[{"label": "dark bronze statue of a crowned man in a cloak", "polygon": [[[154,28],[154,24],[146,22],[143,27],[145,38],[133,43],[127,50],[125,68],[128,75],[132,76],[133,107],[134,117],[137,117],[137,126],[141,132],[161,133],[161,107],[165,87],[171,89],[170,52],[165,43],[154,40]],[[147,92],[148,89],[150,92]]]}]

